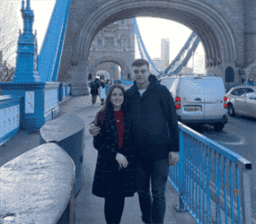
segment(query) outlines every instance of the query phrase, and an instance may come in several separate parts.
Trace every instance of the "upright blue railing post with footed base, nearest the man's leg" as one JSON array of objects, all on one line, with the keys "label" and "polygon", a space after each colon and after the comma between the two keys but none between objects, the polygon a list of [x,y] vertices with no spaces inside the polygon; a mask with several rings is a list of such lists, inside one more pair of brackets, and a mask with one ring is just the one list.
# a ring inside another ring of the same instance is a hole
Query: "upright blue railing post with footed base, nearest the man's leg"
[{"label": "upright blue railing post with footed base, nearest the man's leg", "polygon": [[184,187],[184,139],[183,139],[183,132],[180,130],[180,160],[179,160],[179,194],[180,194],[180,204],[174,205],[174,208],[178,212],[187,211],[184,206],[183,202],[183,195],[185,194],[185,187]]}]

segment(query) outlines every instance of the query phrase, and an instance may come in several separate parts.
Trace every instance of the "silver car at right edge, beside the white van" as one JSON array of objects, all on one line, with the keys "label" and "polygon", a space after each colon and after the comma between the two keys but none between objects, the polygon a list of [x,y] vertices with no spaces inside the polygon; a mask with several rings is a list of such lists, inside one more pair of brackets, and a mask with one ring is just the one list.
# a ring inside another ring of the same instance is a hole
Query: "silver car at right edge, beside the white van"
[{"label": "silver car at right edge, beside the white van", "polygon": [[236,86],[226,94],[228,115],[256,117],[256,86]]}]

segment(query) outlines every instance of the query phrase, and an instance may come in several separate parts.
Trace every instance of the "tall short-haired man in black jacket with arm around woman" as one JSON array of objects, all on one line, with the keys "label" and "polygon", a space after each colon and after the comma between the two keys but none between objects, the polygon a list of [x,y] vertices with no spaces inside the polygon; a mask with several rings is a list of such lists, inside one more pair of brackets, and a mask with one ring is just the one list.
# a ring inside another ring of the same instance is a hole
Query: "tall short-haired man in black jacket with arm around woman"
[{"label": "tall short-haired man in black jacket with arm around woman", "polygon": [[[172,94],[161,85],[149,64],[137,59],[132,64],[134,85],[126,90],[125,113],[132,121],[135,151],[137,151],[137,188],[145,223],[163,223],[165,185],[169,165],[179,160],[180,138]],[[90,128],[96,135],[100,128]],[[170,158],[169,158],[170,157]],[[152,183],[151,198],[150,180]]]}]

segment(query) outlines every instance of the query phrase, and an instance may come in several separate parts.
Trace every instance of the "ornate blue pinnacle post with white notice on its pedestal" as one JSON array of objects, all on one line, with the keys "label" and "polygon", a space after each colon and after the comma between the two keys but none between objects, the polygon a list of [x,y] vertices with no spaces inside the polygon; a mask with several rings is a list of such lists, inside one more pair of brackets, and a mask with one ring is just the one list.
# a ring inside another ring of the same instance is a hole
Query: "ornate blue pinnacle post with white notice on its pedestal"
[{"label": "ornate blue pinnacle post with white notice on its pedestal", "polygon": [[44,125],[44,88],[37,72],[37,39],[32,33],[34,13],[27,0],[26,9],[22,1],[23,31],[20,30],[13,82],[1,82],[3,95],[22,97],[21,128],[36,130]]}]

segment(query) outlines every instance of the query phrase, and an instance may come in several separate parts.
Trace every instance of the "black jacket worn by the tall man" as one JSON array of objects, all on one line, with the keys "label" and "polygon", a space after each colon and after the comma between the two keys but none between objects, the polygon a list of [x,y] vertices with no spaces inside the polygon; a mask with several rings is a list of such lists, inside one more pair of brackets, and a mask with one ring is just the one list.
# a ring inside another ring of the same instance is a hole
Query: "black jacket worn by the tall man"
[{"label": "black jacket worn by the tall man", "polygon": [[170,91],[153,74],[140,96],[137,83],[126,90],[125,112],[132,122],[132,134],[138,156],[160,160],[169,151],[180,151],[180,135],[174,101]]}]

